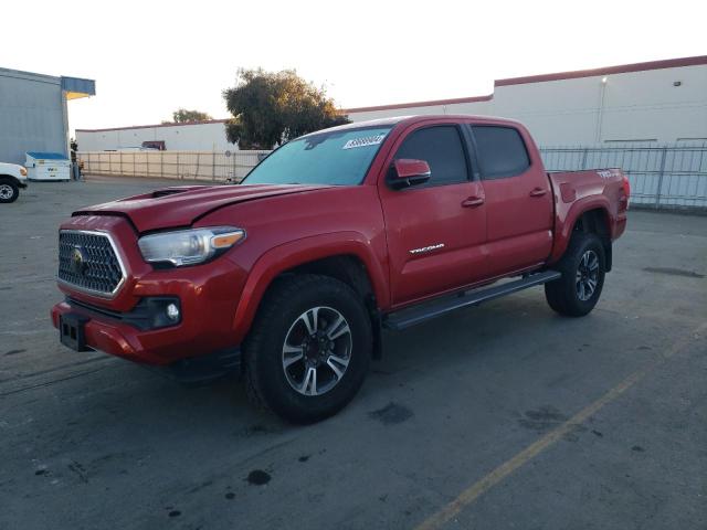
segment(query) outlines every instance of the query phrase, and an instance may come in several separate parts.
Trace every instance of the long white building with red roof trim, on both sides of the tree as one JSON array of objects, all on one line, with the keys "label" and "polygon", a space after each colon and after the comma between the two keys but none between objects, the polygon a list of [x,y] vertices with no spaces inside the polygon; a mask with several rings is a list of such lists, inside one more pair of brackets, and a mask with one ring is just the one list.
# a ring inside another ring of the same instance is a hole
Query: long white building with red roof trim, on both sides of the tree
[{"label": "long white building with red roof trim, on both sides of the tree", "polygon": [[[354,121],[412,114],[475,114],[523,121],[540,146],[707,140],[707,55],[496,80],[487,96],[344,109]],[[76,129],[81,151],[140,147],[226,151],[225,119]]]}]

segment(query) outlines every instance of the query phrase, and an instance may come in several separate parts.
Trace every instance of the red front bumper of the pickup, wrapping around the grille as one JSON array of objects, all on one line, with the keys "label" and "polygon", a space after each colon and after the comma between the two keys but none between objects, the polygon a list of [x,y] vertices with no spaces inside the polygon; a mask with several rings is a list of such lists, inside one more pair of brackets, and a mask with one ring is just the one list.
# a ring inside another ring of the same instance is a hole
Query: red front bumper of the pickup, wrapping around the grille
[{"label": "red front bumper of the pickup, wrapping around the grille", "polygon": [[[127,277],[108,299],[60,284],[67,298],[52,308],[55,328],[66,315],[80,317],[85,347],[152,365],[169,365],[238,347],[233,319],[246,274],[228,254],[192,267],[154,269],[141,258],[135,234],[125,220],[93,218],[92,226],[77,229],[109,229]],[[134,318],[136,314],[144,317],[139,309],[146,300],[160,299],[178,300],[177,324],[156,328],[149,314],[147,319]]]}]

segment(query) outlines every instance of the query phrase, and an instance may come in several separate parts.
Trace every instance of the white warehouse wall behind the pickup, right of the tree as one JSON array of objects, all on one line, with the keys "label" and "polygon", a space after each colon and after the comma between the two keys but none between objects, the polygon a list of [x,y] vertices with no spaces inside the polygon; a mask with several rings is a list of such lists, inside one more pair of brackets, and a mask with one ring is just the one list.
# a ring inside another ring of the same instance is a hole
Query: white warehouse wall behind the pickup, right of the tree
[{"label": "white warehouse wall behind the pickup, right of the tree", "polygon": [[[676,82],[679,86],[674,86]],[[704,140],[707,139],[707,64],[558,81],[497,83],[493,97],[487,100],[394,106],[397,108],[350,109],[349,118],[363,121],[413,114],[503,116],[523,121],[541,146]]]}]

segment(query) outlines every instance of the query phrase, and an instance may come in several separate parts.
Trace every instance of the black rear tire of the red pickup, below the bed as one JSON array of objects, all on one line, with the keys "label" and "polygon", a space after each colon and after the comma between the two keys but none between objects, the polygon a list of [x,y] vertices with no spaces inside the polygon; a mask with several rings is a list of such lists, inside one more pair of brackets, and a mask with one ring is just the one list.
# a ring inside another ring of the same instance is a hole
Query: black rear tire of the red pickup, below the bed
[{"label": "black rear tire of the red pickup, below the bed", "polygon": [[[593,257],[598,262],[595,277],[593,272],[591,276],[585,272],[588,267],[583,262],[584,258],[587,262],[593,261]],[[589,314],[601,296],[605,263],[604,246],[595,234],[574,233],[564,255],[555,266],[557,271],[562,273],[562,277],[545,284],[545,298],[549,306],[560,315],[568,317],[583,317]],[[595,287],[591,295],[589,295],[587,287],[588,278],[595,279]]]}]

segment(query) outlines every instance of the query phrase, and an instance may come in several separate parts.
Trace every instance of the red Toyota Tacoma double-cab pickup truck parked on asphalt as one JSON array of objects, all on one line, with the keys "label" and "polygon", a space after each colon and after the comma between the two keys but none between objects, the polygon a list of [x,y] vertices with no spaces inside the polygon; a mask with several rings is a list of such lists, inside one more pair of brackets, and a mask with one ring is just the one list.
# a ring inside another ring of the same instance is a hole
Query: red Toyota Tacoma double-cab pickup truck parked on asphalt
[{"label": "red Toyota Tacoma double-cab pickup truck parked on asphalt", "polygon": [[256,403],[314,422],[354,398],[382,328],[540,284],[553,310],[587,315],[629,194],[618,169],[548,173],[511,120],[335,127],[285,144],[239,186],[74,212],[52,320],[75,350],[183,381],[241,370]]}]

